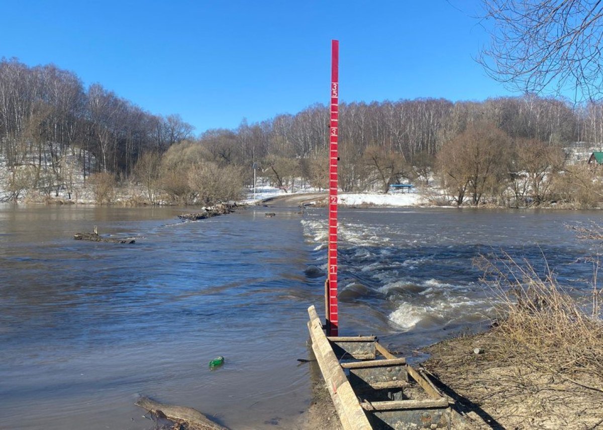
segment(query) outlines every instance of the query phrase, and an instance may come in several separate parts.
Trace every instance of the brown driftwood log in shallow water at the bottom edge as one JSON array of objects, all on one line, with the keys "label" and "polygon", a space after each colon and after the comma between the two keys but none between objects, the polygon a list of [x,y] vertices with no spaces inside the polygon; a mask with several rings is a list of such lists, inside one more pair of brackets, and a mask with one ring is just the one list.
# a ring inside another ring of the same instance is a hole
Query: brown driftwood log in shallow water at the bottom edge
[{"label": "brown driftwood log in shallow water at the bottom edge", "polygon": [[136,406],[146,409],[155,419],[168,419],[174,423],[174,428],[189,430],[229,430],[210,420],[197,409],[186,406],[166,405],[148,397],[141,396],[136,400]]}]

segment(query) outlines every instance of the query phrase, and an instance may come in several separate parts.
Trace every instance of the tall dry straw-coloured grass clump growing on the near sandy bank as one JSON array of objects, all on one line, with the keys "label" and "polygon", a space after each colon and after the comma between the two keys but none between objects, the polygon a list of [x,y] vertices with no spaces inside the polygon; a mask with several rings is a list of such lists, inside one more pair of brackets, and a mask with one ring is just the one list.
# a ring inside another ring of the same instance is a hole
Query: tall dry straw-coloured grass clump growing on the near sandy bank
[{"label": "tall dry straw-coloured grass clump growing on the near sandy bank", "polygon": [[[497,352],[540,371],[598,375],[603,379],[603,324],[596,285],[572,297],[546,268],[539,276],[531,264],[508,254],[482,264],[493,276],[499,319],[493,328]],[[603,390],[603,387],[597,389]]]}]

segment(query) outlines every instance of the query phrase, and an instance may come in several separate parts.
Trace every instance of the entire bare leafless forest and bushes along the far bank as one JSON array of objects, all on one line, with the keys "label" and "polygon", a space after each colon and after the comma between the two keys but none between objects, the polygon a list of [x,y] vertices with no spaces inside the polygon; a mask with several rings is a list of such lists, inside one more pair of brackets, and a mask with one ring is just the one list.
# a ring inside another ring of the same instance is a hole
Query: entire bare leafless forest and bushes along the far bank
[{"label": "entire bare leafless forest and bushes along the far bank", "polygon": [[[456,204],[597,204],[597,169],[572,165],[572,142],[603,142],[603,104],[524,95],[485,101],[342,103],[339,186],[381,190],[410,181]],[[252,166],[283,189],[327,182],[329,112],[314,104],[198,136],[178,115],[153,115],[54,65],[0,61],[0,160],[5,200],[58,195],[74,177],[137,183],[148,203],[236,200]],[[77,161],[77,163],[75,162]],[[586,165],[586,163],[584,163]],[[103,200],[103,199],[97,199]],[[110,198],[104,199],[109,201]]]}]

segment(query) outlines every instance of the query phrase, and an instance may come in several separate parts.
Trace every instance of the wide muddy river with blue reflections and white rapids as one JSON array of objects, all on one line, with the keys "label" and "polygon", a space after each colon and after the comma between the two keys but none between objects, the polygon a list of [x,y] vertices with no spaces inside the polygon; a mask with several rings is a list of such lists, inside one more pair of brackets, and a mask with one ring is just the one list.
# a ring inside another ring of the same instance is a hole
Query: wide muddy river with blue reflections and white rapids
[{"label": "wide muddy river with blue reflections and white rapids", "polygon": [[[326,210],[0,206],[0,428],[149,429],[138,394],[233,429],[295,428],[310,401],[306,308],[323,305]],[[276,217],[264,213],[276,212]],[[601,212],[342,209],[340,333],[406,356],[480,330],[493,299],[472,265],[505,250],[572,291]],[[74,241],[99,233],[136,244]],[[322,311],[320,311],[322,313]],[[223,355],[223,367],[207,363]]]}]

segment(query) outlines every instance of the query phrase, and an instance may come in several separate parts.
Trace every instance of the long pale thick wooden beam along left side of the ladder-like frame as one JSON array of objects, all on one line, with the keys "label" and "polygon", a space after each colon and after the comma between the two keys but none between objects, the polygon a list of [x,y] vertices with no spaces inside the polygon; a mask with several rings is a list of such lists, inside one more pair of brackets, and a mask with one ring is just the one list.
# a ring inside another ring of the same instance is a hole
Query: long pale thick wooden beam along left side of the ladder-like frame
[{"label": "long pale thick wooden beam along left side of the ladder-like frame", "polygon": [[344,430],[371,430],[364,409],[360,406],[352,385],[347,380],[343,368],[333,353],[324,335],[322,324],[314,306],[308,308],[310,321],[308,330],[312,339],[312,350],[323,373],[329,394]]}]

